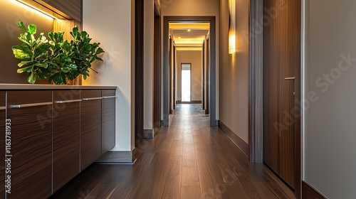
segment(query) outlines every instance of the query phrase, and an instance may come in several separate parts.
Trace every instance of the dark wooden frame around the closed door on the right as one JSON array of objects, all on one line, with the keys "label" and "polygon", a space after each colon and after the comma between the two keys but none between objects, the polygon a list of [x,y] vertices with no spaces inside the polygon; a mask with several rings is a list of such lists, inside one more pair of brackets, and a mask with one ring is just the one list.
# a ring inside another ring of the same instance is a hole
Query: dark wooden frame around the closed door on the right
[{"label": "dark wooden frame around the closed door on the right", "polygon": [[[295,96],[297,99],[303,97],[303,36],[304,36],[304,18],[303,18],[303,2],[300,2],[300,68],[295,71]],[[250,0],[250,69],[249,69],[249,145],[250,145],[250,161],[253,163],[263,163],[263,24],[256,23],[264,17],[263,0]],[[296,106],[298,107],[298,106]],[[300,107],[299,107],[300,109]],[[295,122],[295,198],[301,197],[301,166],[302,153],[302,134],[301,125],[303,125],[303,115]]]}]

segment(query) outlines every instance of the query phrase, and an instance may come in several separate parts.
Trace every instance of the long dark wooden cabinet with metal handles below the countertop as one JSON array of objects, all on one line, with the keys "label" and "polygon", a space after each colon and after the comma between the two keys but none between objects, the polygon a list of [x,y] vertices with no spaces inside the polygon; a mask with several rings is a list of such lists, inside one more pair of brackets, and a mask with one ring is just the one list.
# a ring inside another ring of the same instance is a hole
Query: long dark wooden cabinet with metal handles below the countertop
[{"label": "long dark wooden cabinet with metal handles below the countertop", "polygon": [[115,89],[1,90],[0,129],[0,199],[48,198],[115,146]]}]

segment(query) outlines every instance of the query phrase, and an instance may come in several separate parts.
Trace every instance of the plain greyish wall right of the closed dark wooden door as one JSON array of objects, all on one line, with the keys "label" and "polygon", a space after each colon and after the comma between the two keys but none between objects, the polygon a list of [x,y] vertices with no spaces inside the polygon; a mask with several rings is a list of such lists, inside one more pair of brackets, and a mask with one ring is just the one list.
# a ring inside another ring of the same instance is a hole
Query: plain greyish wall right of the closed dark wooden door
[{"label": "plain greyish wall right of the closed dark wooden door", "polygon": [[356,197],[356,1],[306,1],[304,180]]}]

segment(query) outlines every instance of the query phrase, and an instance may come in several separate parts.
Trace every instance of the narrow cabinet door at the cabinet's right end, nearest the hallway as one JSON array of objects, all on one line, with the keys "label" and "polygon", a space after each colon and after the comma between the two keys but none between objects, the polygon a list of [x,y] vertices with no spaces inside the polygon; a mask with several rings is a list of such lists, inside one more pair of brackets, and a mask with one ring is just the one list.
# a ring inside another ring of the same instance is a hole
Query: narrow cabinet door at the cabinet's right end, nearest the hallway
[{"label": "narrow cabinet door at the cabinet's right end, nearest the hallway", "polygon": [[101,153],[115,146],[115,90],[102,90],[102,148]]}]

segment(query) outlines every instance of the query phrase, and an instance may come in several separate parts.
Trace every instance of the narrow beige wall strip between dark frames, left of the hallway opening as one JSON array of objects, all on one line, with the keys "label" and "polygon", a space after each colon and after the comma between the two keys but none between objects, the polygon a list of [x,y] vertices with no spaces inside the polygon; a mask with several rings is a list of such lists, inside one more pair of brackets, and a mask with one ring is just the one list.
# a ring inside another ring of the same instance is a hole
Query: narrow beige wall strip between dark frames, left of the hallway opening
[{"label": "narrow beige wall strip between dark frames, left of the hallway opening", "polygon": [[144,109],[143,128],[153,129],[154,0],[144,3]]}]

